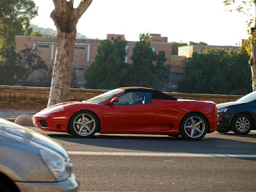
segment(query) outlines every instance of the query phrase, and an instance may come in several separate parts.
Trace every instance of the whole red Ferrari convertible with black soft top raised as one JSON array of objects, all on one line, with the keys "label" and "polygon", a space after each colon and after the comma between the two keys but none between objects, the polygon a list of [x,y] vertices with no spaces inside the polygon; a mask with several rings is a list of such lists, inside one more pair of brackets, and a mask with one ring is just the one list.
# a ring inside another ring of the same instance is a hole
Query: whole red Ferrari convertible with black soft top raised
[{"label": "whole red Ferrari convertible with black soft top raised", "polygon": [[200,140],[216,131],[216,104],[175,99],[151,88],[117,88],[83,102],[63,102],[33,116],[36,127],[88,138],[95,132],[167,134]]}]

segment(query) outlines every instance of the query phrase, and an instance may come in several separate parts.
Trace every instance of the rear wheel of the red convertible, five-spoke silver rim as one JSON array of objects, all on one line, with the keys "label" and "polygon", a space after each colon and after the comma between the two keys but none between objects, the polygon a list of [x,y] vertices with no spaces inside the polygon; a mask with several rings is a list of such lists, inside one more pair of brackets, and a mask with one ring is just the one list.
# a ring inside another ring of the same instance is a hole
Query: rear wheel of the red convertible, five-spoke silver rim
[{"label": "rear wheel of the red convertible, five-spoke silver rim", "polygon": [[180,136],[186,140],[201,140],[207,131],[207,119],[199,113],[189,113],[180,122]]}]

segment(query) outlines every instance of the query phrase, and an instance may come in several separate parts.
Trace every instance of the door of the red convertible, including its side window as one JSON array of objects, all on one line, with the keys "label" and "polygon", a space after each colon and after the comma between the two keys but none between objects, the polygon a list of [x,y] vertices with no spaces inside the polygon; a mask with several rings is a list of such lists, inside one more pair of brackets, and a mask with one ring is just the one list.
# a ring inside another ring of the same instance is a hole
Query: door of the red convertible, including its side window
[{"label": "door of the red convertible, including its side window", "polygon": [[101,132],[147,133],[155,111],[152,94],[129,92],[120,95],[118,99],[113,105],[103,107],[105,130]]}]

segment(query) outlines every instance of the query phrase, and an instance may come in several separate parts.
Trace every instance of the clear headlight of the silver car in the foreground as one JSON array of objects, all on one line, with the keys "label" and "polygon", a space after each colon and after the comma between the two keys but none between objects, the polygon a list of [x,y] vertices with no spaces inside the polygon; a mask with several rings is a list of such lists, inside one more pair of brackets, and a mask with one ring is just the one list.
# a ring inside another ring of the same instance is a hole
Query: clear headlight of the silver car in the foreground
[{"label": "clear headlight of the silver car in the foreground", "polygon": [[40,156],[49,171],[58,181],[70,177],[72,163],[69,158],[65,160],[59,154],[43,149],[40,149]]}]

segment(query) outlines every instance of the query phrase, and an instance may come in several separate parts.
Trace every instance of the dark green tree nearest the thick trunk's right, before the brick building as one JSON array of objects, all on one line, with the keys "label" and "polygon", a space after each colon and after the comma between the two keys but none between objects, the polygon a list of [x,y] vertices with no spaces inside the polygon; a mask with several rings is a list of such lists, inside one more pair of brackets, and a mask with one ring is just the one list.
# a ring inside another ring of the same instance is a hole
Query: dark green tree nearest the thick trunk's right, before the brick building
[{"label": "dark green tree nearest the thick trunk's right, before the brick building", "polygon": [[113,89],[121,86],[125,67],[125,40],[103,40],[92,65],[85,71],[88,88]]}]

